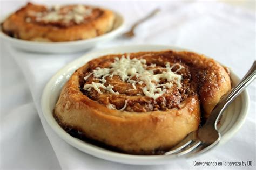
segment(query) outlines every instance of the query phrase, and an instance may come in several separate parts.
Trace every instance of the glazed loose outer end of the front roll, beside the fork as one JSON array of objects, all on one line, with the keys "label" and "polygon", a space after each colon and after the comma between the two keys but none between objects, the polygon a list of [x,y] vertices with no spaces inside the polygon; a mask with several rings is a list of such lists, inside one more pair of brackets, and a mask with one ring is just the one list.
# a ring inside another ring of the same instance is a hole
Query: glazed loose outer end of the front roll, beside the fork
[{"label": "glazed loose outer end of the front roll, beside the fork", "polygon": [[180,53],[180,58],[198,70],[200,103],[204,117],[208,118],[221,97],[231,89],[230,76],[218,62],[192,52]]}]

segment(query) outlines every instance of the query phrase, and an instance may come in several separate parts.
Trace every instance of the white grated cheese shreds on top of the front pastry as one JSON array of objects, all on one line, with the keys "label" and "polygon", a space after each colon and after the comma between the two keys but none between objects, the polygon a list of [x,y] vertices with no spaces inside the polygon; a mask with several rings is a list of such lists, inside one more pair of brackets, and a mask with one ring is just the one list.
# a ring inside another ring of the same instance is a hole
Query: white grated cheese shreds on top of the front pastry
[{"label": "white grated cheese shreds on top of the front pastry", "polygon": [[[172,69],[178,66],[179,68],[173,72]],[[151,68],[153,67],[153,68]],[[132,85],[133,89],[136,90],[136,84],[140,84],[140,87],[145,96],[156,99],[166,93],[167,89],[173,87],[176,84],[177,88],[181,88],[182,76],[177,72],[184,67],[178,63],[170,66],[167,62],[165,67],[156,67],[156,64],[146,65],[145,59],[130,59],[130,56],[123,55],[120,59],[115,58],[114,62],[111,63],[110,68],[99,68],[97,67],[93,72],[84,77],[87,80],[91,75],[98,79],[101,83],[92,82],[92,84],[85,84],[84,89],[90,91],[92,88],[95,89],[99,94],[102,94],[100,88],[109,91],[112,94],[118,95],[118,91],[113,91],[113,86],[104,86],[106,83],[106,77],[110,79],[117,75],[123,82],[128,82]],[[154,74],[155,70],[161,70],[161,73]],[[159,84],[161,80],[166,80],[166,83]]]}]

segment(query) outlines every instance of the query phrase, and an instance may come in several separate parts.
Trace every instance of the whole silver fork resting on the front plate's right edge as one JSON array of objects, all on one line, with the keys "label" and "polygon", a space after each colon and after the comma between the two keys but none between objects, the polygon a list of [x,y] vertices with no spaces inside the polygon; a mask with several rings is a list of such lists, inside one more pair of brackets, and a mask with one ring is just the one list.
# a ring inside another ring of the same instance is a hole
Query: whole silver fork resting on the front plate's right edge
[{"label": "whole silver fork resting on the front plate's right edge", "polygon": [[171,151],[165,155],[181,155],[188,154],[195,155],[210,150],[216,146],[220,141],[221,135],[217,130],[217,123],[224,110],[231,104],[231,102],[242,92],[256,77],[256,61],[254,61],[250,70],[246,73],[244,78],[235,86],[230,93],[216,105],[211,112],[210,117],[205,124],[196,131],[188,134],[180,143],[172,148]]}]

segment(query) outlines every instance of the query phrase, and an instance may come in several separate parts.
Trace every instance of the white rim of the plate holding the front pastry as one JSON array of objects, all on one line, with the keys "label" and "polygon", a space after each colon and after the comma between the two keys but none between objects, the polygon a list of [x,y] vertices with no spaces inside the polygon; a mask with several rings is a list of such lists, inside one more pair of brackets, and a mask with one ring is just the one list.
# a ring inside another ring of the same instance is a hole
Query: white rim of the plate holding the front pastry
[{"label": "white rim of the plate holding the front pastry", "polygon": [[[77,69],[79,66],[77,65],[77,63],[79,63],[80,61],[83,61],[87,56],[93,56],[93,55],[97,55],[97,56],[102,56],[105,54],[110,54],[113,53],[113,51],[116,51],[117,49],[122,51],[122,48],[126,48],[126,49],[132,49],[132,48],[141,48],[141,51],[145,51],[145,48],[161,48],[159,50],[163,50],[163,49],[173,49],[173,50],[177,50],[177,51],[191,51],[188,49],[184,49],[184,48],[179,48],[179,47],[174,47],[174,46],[169,46],[169,45],[129,45],[129,46],[117,46],[117,47],[112,47],[112,48],[107,48],[107,49],[102,49],[100,51],[95,51],[95,52],[90,52],[90,53],[86,53],[83,56],[81,56],[80,58],[70,62],[68,65],[64,66],[62,69],[60,69],[54,76],[52,76],[52,78],[50,79],[50,81],[46,84],[44,90],[43,90],[43,95],[42,95],[42,99],[41,99],[41,106],[42,106],[42,112],[44,115],[44,118],[46,119],[46,122],[48,122],[48,124],[51,126],[51,128],[53,129],[53,131],[55,131],[58,136],[60,138],[62,138],[63,140],[65,140],[67,143],[69,143],[70,145],[72,145],[73,147],[78,148],[78,150],[81,150],[87,154],[93,155],[95,157],[98,158],[102,158],[105,160],[110,160],[110,161],[114,161],[114,162],[120,162],[120,163],[124,163],[124,164],[134,164],[134,165],[157,165],[157,164],[169,164],[172,161],[171,160],[176,160],[176,159],[180,159],[180,158],[184,158],[184,157],[174,157],[172,155],[130,155],[130,154],[124,154],[124,153],[118,153],[118,152],[113,152],[113,151],[109,151],[109,150],[105,150],[103,148],[99,148],[98,146],[94,146],[92,144],[87,144],[77,138],[74,138],[72,136],[70,136],[70,134],[66,133],[59,125],[58,123],[55,121],[55,119],[53,118],[53,116],[51,116],[51,118],[49,117],[49,115],[47,115],[47,113],[49,114],[49,109],[47,109],[47,105],[46,105],[46,101],[48,100],[48,95],[50,93],[50,89],[52,88],[52,84],[55,84],[54,82],[63,74],[69,72],[69,70],[74,70]],[[158,51],[159,51],[158,50]],[[147,50],[150,51],[150,50]],[[157,51],[157,50],[152,50],[152,51]],[[117,53],[125,53],[124,52],[117,52]],[[92,57],[94,58],[94,57]],[[92,58],[87,59],[87,61],[90,61]],[[82,66],[84,65],[85,62],[80,62],[79,65]],[[75,70],[74,70],[75,71]],[[237,77],[231,70],[231,73]],[[237,79],[239,79],[237,77]],[[240,121],[235,121],[234,123],[234,128],[232,130],[230,130],[230,132],[228,134],[226,134],[225,138],[223,137],[220,140],[220,144],[224,144],[227,140],[229,140],[232,136],[234,136],[234,134],[241,128],[242,124],[244,124],[246,116],[248,114],[248,110],[249,110],[249,105],[250,105],[250,97],[248,95],[248,91],[245,90],[242,93],[243,97],[244,97],[244,101],[245,101],[245,105],[244,105],[244,110],[243,110],[243,114],[241,117],[239,117]],[[52,115],[52,111],[51,115]]]}]

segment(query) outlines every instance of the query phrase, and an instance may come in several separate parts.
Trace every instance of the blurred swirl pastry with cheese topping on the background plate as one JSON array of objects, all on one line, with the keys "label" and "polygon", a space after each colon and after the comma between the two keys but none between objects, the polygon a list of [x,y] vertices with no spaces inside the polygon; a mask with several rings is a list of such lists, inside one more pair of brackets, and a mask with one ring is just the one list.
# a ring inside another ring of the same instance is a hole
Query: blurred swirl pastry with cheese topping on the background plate
[{"label": "blurred swirl pastry with cheese topping on the background plate", "polygon": [[109,32],[114,23],[112,11],[85,5],[53,6],[28,3],[10,15],[2,30],[9,36],[45,42],[89,39]]}]

